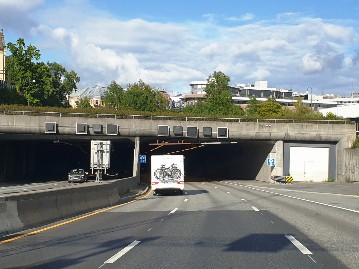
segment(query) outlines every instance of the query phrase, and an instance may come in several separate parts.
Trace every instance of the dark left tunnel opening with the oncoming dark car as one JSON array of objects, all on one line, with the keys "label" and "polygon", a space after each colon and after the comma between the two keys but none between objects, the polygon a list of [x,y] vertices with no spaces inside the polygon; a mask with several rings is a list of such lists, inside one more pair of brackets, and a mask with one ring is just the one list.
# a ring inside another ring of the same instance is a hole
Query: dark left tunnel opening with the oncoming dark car
[{"label": "dark left tunnel opening with the oncoming dark car", "polygon": [[[0,180],[18,183],[67,180],[72,169],[90,172],[90,141],[1,140]],[[116,170],[116,178],[132,176],[134,148],[135,143],[129,139],[111,141],[111,169]]]}]

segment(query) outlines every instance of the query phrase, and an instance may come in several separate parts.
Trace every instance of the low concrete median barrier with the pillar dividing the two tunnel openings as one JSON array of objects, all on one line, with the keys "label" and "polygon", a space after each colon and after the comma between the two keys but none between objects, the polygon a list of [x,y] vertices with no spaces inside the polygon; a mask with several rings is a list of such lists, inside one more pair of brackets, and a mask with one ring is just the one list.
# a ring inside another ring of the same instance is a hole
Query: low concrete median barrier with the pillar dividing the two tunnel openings
[{"label": "low concrete median barrier with the pillar dividing the two tunnel openings", "polygon": [[85,187],[69,186],[3,195],[4,197],[0,197],[0,232],[32,227],[118,203],[121,193],[137,188],[140,182],[139,151],[140,139],[136,137],[137,162],[130,178],[107,183],[89,183]]}]

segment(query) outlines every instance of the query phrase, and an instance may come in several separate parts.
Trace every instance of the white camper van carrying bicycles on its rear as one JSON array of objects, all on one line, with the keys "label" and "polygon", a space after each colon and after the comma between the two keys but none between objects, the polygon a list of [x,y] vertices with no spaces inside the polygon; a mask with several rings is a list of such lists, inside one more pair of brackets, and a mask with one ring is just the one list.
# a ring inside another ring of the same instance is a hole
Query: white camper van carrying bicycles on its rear
[{"label": "white camper van carrying bicycles on its rear", "polygon": [[153,195],[179,193],[185,187],[183,155],[152,155],[151,184]]}]

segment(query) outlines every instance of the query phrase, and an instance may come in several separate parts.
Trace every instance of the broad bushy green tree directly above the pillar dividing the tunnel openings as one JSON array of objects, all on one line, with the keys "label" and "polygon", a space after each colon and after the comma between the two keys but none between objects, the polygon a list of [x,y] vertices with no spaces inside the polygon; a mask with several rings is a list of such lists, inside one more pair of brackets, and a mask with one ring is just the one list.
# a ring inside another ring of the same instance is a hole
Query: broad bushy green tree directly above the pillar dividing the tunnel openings
[{"label": "broad bushy green tree directly above the pillar dividing the tunnel openings", "polygon": [[139,80],[134,85],[127,85],[127,92],[123,99],[123,108],[138,111],[155,112],[168,108],[168,102],[158,91],[152,91],[151,87]]}]

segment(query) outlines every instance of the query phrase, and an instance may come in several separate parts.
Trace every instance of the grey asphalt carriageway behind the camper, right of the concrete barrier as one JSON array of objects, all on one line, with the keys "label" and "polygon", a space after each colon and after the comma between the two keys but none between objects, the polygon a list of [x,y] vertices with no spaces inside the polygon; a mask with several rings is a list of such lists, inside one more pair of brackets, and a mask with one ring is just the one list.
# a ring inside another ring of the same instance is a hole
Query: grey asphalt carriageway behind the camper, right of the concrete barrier
[{"label": "grey asphalt carriageway behind the camper, right of the concrete barrier", "polygon": [[187,182],[185,195],[0,242],[0,267],[359,268],[359,198],[264,190]]}]

